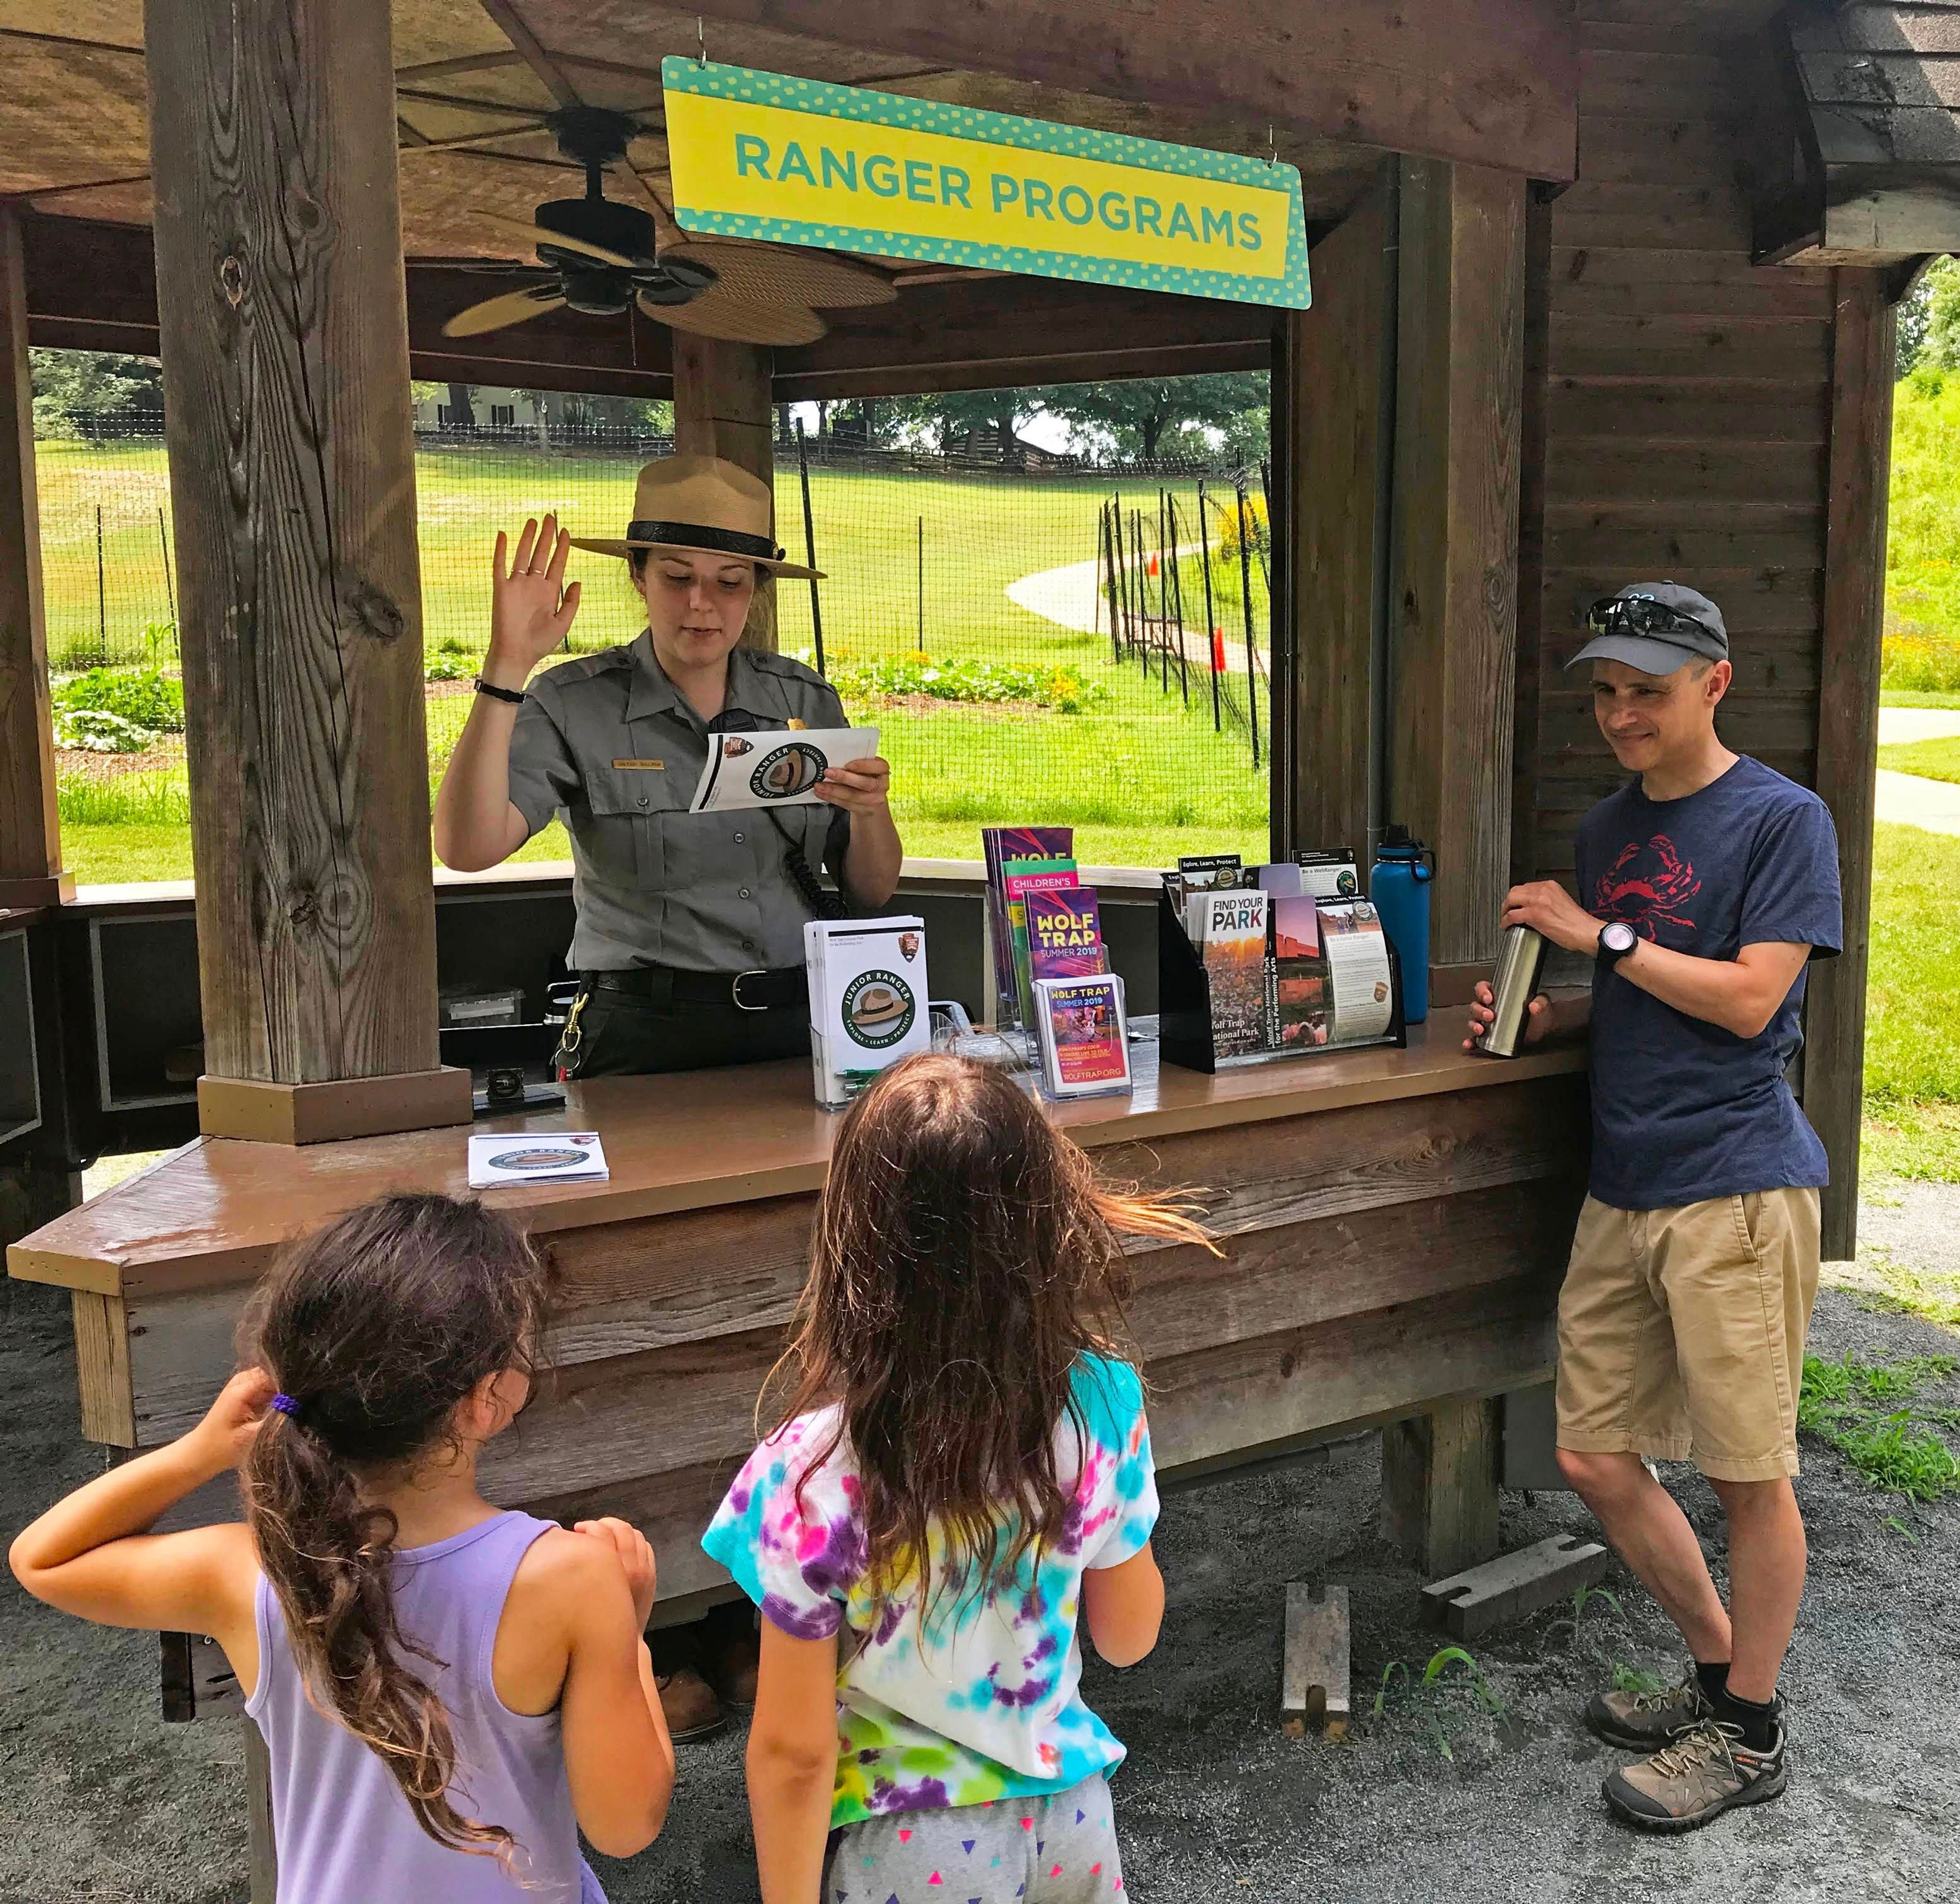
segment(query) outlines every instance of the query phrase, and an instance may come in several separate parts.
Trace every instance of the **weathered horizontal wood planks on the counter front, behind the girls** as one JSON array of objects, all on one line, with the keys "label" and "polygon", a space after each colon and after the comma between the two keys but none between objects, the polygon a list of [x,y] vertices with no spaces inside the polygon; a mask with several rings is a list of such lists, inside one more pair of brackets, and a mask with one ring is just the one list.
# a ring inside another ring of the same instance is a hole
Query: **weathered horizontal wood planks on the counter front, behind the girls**
[{"label": "weathered horizontal wood planks on the counter front, behind the girls", "polygon": [[[1488,1085],[1123,1146],[1115,1175],[1205,1187],[1223,1260],[1139,1248],[1129,1322],[1168,1465],[1535,1379],[1580,1183],[1574,1075]],[[813,1197],[566,1230],[555,1375],[492,1444],[492,1497],[547,1512],[606,1502],[662,1551],[662,1593],[713,1583],[696,1551],[755,1438],[757,1397],[806,1269]],[[100,1305],[129,1406],[90,1432],[153,1448],[233,1365],[247,1285]],[[120,1336],[112,1340],[112,1330]],[[104,1430],[114,1430],[106,1434]]]}]

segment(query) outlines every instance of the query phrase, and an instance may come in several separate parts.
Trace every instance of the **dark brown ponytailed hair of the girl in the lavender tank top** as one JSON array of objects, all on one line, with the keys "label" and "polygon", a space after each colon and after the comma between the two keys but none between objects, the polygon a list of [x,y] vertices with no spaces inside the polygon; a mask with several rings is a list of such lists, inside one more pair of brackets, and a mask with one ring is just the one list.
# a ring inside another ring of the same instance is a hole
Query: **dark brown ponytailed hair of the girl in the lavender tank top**
[{"label": "dark brown ponytailed hair of the girl in the lavender tank top", "polygon": [[380,1197],[290,1250],[239,1324],[243,1359],[298,1412],[272,1410],[245,1459],[245,1518],[308,1696],[388,1767],[416,1822],[455,1851],[508,1855],[504,1826],[465,1818],[443,1702],[406,1663],[390,1593],[396,1518],[363,1477],[453,1446],[486,1375],[531,1373],[547,1269],[474,1201]]}]

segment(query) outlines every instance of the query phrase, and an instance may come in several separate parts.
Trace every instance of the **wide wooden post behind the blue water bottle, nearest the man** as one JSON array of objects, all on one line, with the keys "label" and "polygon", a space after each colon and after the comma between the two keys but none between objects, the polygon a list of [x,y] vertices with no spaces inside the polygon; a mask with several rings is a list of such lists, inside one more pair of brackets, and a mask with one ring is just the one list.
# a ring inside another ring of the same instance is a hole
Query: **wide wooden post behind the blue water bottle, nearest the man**
[{"label": "wide wooden post behind the blue water bottle, nearest the man", "polygon": [[1401,163],[1386,821],[1437,850],[1437,1003],[1497,952],[1511,737],[1525,180]]}]

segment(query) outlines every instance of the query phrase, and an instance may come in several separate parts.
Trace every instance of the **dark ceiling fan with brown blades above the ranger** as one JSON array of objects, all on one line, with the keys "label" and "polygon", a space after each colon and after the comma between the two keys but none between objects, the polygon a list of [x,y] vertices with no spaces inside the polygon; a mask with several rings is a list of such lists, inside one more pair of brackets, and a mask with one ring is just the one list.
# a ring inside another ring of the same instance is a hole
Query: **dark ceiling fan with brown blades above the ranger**
[{"label": "dark ceiling fan with brown blades above the ranger", "polygon": [[623,112],[566,106],[545,123],[559,149],[584,167],[584,198],[553,198],[531,219],[478,214],[537,247],[531,284],[457,311],[445,337],[480,337],[570,306],[617,317],[631,306],[657,323],[735,343],[815,343],[827,329],[817,308],[890,304],[892,282],[866,264],[786,245],[735,239],[657,243],[659,227],[639,206],[608,198],[608,165],[625,157],[641,131]]}]

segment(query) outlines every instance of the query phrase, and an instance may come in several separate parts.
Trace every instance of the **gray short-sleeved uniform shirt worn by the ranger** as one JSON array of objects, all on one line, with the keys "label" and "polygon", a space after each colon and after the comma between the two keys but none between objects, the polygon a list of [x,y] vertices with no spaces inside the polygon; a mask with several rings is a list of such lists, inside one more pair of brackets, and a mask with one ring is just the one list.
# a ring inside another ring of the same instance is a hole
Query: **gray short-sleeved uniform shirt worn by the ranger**
[{"label": "gray short-sleeved uniform shirt worn by the ranger", "polygon": [[[723,713],[780,731],[849,727],[837,691],[784,654],[735,648]],[[510,797],[537,833],[572,836],[574,972],[674,966],[751,972],[804,964],[811,917],[782,864],[784,834],[811,866],[843,868],[851,815],[808,805],[688,813],[708,723],[668,682],[653,637],[539,674],[510,740]]]}]

